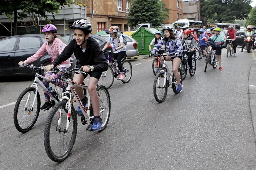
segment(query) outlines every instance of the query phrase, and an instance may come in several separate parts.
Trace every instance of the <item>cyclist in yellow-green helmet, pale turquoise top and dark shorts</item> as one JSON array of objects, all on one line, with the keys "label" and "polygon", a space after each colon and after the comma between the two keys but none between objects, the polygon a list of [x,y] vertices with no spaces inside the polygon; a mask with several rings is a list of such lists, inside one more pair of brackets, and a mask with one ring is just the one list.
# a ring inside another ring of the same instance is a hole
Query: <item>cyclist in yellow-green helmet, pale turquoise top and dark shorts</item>
[{"label": "cyclist in yellow-green helmet, pale turquoise top and dark shorts", "polygon": [[215,31],[214,35],[208,38],[208,40],[213,40],[214,43],[218,44],[218,45],[212,44],[211,46],[216,48],[216,54],[219,60],[219,70],[223,70],[221,67],[221,49],[222,49],[221,45],[225,43],[224,36],[220,34],[221,29],[219,27],[216,27],[214,31]]}]

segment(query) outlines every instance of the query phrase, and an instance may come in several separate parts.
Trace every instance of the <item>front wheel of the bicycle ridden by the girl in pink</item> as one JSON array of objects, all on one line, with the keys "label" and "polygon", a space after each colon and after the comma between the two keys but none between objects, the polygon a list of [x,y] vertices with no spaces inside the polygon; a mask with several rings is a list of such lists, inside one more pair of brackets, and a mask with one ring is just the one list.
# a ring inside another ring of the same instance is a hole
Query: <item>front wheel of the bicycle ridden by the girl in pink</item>
[{"label": "front wheel of the bicycle ridden by the girl in pink", "polygon": [[40,104],[40,95],[34,87],[28,87],[22,91],[17,99],[13,113],[14,125],[19,132],[26,133],[35,125],[40,111]]}]

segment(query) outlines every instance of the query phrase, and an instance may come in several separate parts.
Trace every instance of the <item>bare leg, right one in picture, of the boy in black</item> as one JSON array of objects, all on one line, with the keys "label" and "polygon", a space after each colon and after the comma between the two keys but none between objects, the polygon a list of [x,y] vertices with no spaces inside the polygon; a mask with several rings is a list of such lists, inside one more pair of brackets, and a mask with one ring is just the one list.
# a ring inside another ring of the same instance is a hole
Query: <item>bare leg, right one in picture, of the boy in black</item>
[{"label": "bare leg, right one in picture, of the boy in black", "polygon": [[100,99],[96,91],[97,83],[98,83],[98,79],[94,77],[89,78],[88,93],[91,98],[94,116],[100,116]]}]

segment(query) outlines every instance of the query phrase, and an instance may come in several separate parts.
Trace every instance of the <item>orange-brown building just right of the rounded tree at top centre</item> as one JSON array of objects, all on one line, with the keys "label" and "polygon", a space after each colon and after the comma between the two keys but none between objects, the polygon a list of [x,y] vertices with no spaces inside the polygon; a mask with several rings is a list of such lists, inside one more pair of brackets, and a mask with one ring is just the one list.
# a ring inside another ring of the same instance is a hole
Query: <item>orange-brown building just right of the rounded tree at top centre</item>
[{"label": "orange-brown building just right of the rounded tree at top centre", "polygon": [[164,21],[164,25],[172,25],[178,19],[183,19],[183,1],[182,0],[162,0],[166,8],[170,10],[169,19]]}]

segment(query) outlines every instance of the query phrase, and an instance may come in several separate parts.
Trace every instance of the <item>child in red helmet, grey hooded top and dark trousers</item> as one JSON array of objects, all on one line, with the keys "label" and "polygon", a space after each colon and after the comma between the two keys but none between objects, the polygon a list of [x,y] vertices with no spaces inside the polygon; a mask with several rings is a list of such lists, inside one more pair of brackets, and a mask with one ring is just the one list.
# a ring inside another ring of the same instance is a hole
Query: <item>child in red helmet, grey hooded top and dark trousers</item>
[{"label": "child in red helmet, grey hooded top and dark trousers", "polygon": [[[185,44],[185,54],[188,55],[189,73],[193,74],[192,56],[195,53],[196,41],[190,30],[183,31],[184,38],[182,38],[181,44]],[[190,52],[189,52],[190,50]]]}]

